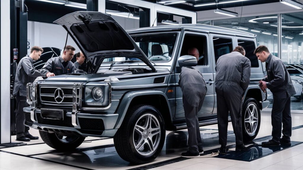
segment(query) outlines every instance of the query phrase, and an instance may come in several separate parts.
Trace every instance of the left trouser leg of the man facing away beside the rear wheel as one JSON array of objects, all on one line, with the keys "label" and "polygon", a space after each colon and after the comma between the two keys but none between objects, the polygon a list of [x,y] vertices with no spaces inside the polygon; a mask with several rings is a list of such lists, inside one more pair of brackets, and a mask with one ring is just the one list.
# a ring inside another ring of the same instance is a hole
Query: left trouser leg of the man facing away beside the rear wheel
[{"label": "left trouser leg of the man facing away beside the rear wheel", "polygon": [[217,118],[219,131],[219,144],[227,144],[228,107],[223,96],[217,93]]}]

